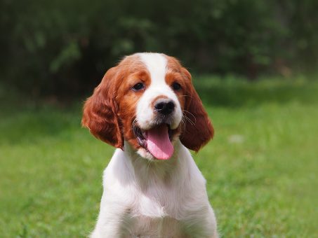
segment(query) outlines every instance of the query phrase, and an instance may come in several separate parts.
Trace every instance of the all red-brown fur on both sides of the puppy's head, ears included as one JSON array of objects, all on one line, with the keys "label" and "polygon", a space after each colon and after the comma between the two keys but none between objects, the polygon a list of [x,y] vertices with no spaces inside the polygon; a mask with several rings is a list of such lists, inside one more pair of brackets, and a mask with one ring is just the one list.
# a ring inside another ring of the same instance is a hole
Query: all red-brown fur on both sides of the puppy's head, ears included
[{"label": "all red-brown fur on both sides of the puppy's head, ears included", "polygon": [[[166,56],[168,60],[166,83],[180,83],[181,89],[175,91],[181,109],[187,119],[185,127],[180,124],[175,133],[181,132],[180,141],[193,151],[199,151],[213,137],[213,127],[208,119],[192,78],[187,69],[177,59]],[[135,149],[140,148],[133,134],[135,109],[143,90],[134,92],[131,87],[143,82],[145,88],[151,83],[150,73],[138,56],[125,57],[117,66],[107,71],[93,95],[84,104],[82,125],[88,127],[98,139],[124,148],[124,140]]]}]

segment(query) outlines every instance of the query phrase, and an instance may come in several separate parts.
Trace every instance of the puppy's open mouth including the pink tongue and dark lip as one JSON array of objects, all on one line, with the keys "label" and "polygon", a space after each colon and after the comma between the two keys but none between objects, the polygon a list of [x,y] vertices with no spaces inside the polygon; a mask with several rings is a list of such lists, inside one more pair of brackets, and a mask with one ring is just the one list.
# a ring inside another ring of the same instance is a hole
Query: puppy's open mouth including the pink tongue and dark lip
[{"label": "puppy's open mouth including the pink tongue and dark lip", "polygon": [[167,124],[156,125],[150,130],[133,127],[138,144],[158,160],[168,160],[173,155],[173,130]]}]

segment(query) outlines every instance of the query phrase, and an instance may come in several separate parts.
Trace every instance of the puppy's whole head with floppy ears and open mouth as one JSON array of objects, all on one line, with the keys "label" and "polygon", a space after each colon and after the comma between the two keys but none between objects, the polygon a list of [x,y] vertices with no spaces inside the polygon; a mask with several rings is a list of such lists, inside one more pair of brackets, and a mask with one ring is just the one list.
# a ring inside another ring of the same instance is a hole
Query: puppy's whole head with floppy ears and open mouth
[{"label": "puppy's whole head with floppy ears and open mouth", "polygon": [[178,138],[199,151],[213,137],[190,73],[157,53],[125,57],[108,70],[84,105],[82,124],[117,148],[128,141],[149,160],[171,158]]}]

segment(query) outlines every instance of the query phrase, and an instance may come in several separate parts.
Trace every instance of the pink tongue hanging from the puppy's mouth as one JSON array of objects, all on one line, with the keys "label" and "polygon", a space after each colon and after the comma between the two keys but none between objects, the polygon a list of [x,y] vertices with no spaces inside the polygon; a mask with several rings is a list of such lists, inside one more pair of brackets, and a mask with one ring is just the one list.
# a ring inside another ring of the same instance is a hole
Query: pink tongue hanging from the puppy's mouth
[{"label": "pink tongue hanging from the puppy's mouth", "polygon": [[168,127],[161,125],[147,131],[147,148],[158,160],[168,160],[173,154]]}]

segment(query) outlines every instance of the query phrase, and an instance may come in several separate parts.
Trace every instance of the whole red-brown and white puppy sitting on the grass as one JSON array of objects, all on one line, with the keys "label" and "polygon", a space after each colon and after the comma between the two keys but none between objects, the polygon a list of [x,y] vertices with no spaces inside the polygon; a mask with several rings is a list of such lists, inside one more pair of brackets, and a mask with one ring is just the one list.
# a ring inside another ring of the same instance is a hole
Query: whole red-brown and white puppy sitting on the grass
[{"label": "whole red-brown and white puppy sitting on the grass", "polygon": [[124,57],[86,100],[82,125],[117,148],[91,237],[218,237],[206,181],[188,151],[214,130],[178,59]]}]

